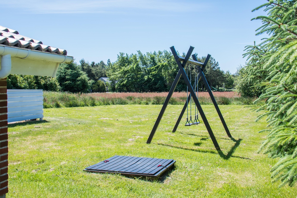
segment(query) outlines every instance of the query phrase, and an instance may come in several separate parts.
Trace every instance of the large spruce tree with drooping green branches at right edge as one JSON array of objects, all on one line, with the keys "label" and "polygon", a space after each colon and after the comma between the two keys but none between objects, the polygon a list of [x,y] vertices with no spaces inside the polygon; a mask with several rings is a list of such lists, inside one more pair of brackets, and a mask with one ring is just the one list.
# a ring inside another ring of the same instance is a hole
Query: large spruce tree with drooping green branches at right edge
[{"label": "large spruce tree with drooping green branches at right edge", "polygon": [[[293,186],[297,181],[297,0],[270,0],[252,10],[267,16],[256,35],[267,34],[259,45],[246,46],[245,82],[257,85],[265,105],[258,119],[266,117],[269,131],[259,152],[279,158],[271,169],[273,181]],[[261,131],[262,132],[262,131]]]}]

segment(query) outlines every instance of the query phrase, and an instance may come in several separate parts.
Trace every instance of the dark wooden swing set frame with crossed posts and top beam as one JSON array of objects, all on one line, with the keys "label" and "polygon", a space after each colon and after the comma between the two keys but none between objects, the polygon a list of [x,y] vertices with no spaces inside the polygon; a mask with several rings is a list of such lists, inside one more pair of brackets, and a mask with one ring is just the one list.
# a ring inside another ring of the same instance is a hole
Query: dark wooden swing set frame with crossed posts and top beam
[{"label": "dark wooden swing set frame with crossed posts and top beam", "polygon": [[[184,108],[183,108],[183,110],[182,110],[182,112],[181,112],[181,114],[180,114],[180,116],[179,116],[179,118],[178,118],[178,121],[176,122],[176,125],[175,125],[175,127],[174,127],[174,129],[173,129],[173,132],[176,131],[177,126],[178,126],[179,122],[181,121],[182,116],[184,115],[184,111],[185,111],[186,108],[187,108],[187,105],[188,105],[188,103],[189,103],[189,99],[191,99],[191,97],[192,97],[192,99],[194,100],[194,102],[195,102],[195,104],[196,104],[196,106],[197,106],[198,112],[199,112],[199,114],[200,114],[200,116],[201,116],[201,118],[202,118],[202,120],[203,120],[203,123],[204,123],[204,125],[206,126],[206,129],[207,129],[207,131],[208,131],[208,134],[209,134],[209,136],[211,137],[211,140],[212,140],[212,142],[213,142],[213,144],[214,144],[214,147],[215,147],[217,150],[220,150],[219,144],[218,144],[218,142],[217,142],[217,140],[216,140],[216,138],[215,138],[215,136],[214,136],[214,133],[212,132],[212,129],[211,129],[209,123],[208,123],[208,120],[207,120],[207,118],[206,118],[206,115],[204,114],[204,112],[203,112],[203,110],[202,110],[202,107],[201,107],[201,105],[200,105],[200,103],[199,103],[199,101],[198,101],[198,98],[197,98],[197,96],[196,96],[196,94],[195,94],[195,91],[194,91],[194,89],[195,89],[196,86],[198,85],[200,79],[202,78],[204,84],[206,85],[206,89],[208,90],[208,93],[209,93],[209,95],[211,96],[212,102],[214,103],[214,106],[215,106],[215,108],[216,108],[216,110],[217,110],[217,113],[219,114],[219,117],[220,117],[220,119],[221,119],[221,121],[222,121],[222,124],[223,124],[223,126],[224,126],[224,128],[225,128],[225,131],[226,131],[228,137],[231,137],[231,134],[230,134],[229,129],[228,129],[227,125],[226,125],[226,122],[225,122],[225,120],[224,120],[224,118],[223,118],[223,116],[222,116],[221,111],[219,110],[219,107],[218,107],[218,105],[217,105],[217,102],[216,102],[216,100],[214,99],[214,96],[213,96],[213,94],[212,94],[212,92],[211,92],[211,89],[209,88],[209,85],[208,85],[207,80],[206,80],[206,78],[205,78],[205,75],[204,75],[204,73],[203,73],[203,71],[204,71],[204,69],[205,69],[205,67],[206,67],[206,64],[207,64],[207,62],[208,62],[208,60],[209,60],[209,58],[210,58],[210,55],[208,54],[208,56],[206,57],[206,60],[205,60],[204,63],[202,64],[202,63],[200,63],[200,62],[197,61],[197,58],[196,58],[195,54],[192,55],[193,61],[192,61],[192,60],[189,60],[190,55],[192,54],[192,52],[193,52],[193,50],[194,50],[194,47],[192,47],[192,46],[190,46],[190,48],[189,48],[189,50],[188,50],[188,52],[187,52],[187,54],[186,54],[185,57],[178,56],[177,53],[176,53],[176,50],[175,50],[174,46],[170,47],[170,49],[171,49],[171,51],[172,51],[172,53],[173,53],[173,56],[174,56],[174,58],[175,58],[175,60],[176,60],[176,63],[177,63],[178,68],[179,68],[179,71],[178,71],[178,73],[177,73],[177,75],[176,75],[176,78],[175,78],[174,81],[173,81],[173,84],[172,84],[172,86],[171,86],[171,88],[170,88],[170,91],[169,91],[169,93],[168,93],[168,96],[167,96],[166,99],[165,99],[165,102],[164,102],[164,104],[163,104],[163,106],[162,106],[162,109],[161,109],[161,111],[160,111],[160,113],[159,113],[159,115],[158,115],[158,117],[157,117],[157,120],[156,120],[156,122],[155,122],[155,124],[154,124],[154,126],[153,126],[153,129],[152,129],[152,131],[151,131],[151,134],[149,135],[149,138],[148,138],[148,140],[147,140],[146,143],[147,143],[147,144],[151,143],[151,140],[152,140],[153,137],[154,137],[154,134],[155,134],[155,132],[156,132],[158,126],[159,126],[159,123],[160,123],[160,121],[161,121],[161,119],[162,119],[162,116],[164,115],[164,112],[165,112],[165,110],[166,110],[166,107],[168,106],[169,100],[170,100],[170,98],[171,98],[171,96],[172,96],[172,94],[173,94],[173,92],[174,92],[174,90],[175,90],[175,88],[176,88],[176,85],[177,85],[177,83],[178,83],[180,77],[182,76],[182,77],[184,78],[186,84],[187,84],[187,88],[189,89],[190,94],[189,94],[188,99],[187,99],[187,102],[186,102],[186,104],[184,105]],[[188,76],[187,76],[187,74],[186,74],[186,72],[185,72],[185,70],[184,70],[184,67],[186,66],[187,63],[189,63],[189,64],[193,64],[193,65],[197,65],[197,66],[198,66],[197,68],[198,68],[198,72],[199,72],[199,74],[198,74],[197,78],[195,79],[195,83],[194,83],[193,86],[191,85],[190,80],[189,80],[189,78],[188,78]],[[188,121],[187,121],[187,123],[188,123],[189,126],[190,126],[190,123],[189,123]],[[200,122],[199,122],[199,123],[200,123]]]}]

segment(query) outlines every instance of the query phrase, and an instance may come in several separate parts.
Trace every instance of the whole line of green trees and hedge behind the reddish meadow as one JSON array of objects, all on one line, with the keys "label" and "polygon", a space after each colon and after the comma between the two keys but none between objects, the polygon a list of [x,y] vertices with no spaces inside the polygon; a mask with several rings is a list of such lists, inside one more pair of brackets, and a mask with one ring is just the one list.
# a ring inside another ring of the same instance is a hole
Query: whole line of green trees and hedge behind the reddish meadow
[{"label": "whole line of green trees and hedge behind the reddish meadow", "polygon": [[[184,54],[182,56],[185,56]],[[206,57],[198,57],[204,62]],[[109,77],[109,91],[115,92],[164,92],[169,91],[178,72],[178,66],[171,52],[167,50],[143,54],[119,53],[117,60],[110,60],[105,64],[87,62],[84,59],[80,64],[61,64],[55,78],[28,75],[9,75],[8,89],[43,89],[46,91],[78,92],[105,92],[106,85],[98,81],[100,77]],[[197,69],[192,65],[186,66],[189,78],[194,84]],[[211,57],[206,65],[205,76],[209,85],[218,89],[225,84],[225,88],[232,88],[234,75],[220,69],[219,63]],[[206,91],[203,82],[199,86]],[[181,78],[176,91],[186,91],[184,79]]]}]

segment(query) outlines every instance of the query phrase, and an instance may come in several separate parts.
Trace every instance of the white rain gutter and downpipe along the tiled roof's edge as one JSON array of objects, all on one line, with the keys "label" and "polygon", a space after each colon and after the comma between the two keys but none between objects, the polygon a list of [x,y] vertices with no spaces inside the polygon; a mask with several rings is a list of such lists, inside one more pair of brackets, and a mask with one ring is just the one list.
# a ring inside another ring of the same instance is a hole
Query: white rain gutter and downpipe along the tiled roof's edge
[{"label": "white rain gutter and downpipe along the tiled roof's edge", "polygon": [[[0,56],[1,56],[1,69],[0,69],[0,79],[6,78],[11,72],[11,59],[20,58],[32,61],[42,61],[56,63],[56,70],[61,63],[72,63],[72,56],[65,56],[59,54],[53,54],[48,52],[41,52],[37,50],[29,50],[25,48],[9,47],[5,45],[0,45]],[[42,69],[42,68],[40,68]]]}]

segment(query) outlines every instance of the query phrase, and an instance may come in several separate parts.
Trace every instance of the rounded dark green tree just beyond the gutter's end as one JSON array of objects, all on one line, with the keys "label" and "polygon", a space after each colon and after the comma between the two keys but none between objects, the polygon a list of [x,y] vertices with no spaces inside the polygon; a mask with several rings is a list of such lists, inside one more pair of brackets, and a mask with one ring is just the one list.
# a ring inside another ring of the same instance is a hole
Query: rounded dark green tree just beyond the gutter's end
[{"label": "rounded dark green tree just beyond the gutter's end", "polygon": [[56,78],[63,91],[70,91],[72,93],[87,92],[94,82],[93,80],[89,80],[87,74],[75,62],[61,64]]}]

